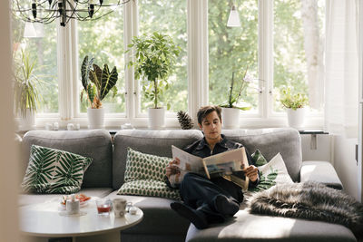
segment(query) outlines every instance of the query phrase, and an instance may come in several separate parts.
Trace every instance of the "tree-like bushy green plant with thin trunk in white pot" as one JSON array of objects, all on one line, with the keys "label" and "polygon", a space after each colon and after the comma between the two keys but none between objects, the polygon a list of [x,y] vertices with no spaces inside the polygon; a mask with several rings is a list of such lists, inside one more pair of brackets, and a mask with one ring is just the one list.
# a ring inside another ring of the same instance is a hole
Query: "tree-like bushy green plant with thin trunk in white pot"
[{"label": "tree-like bushy green plant with thin trunk in white pot", "polygon": [[[162,92],[169,88],[168,78],[181,49],[173,43],[172,37],[156,32],[151,36],[134,36],[128,48],[126,52],[133,50],[134,54],[128,66],[134,67],[135,79],[142,77],[142,91],[153,103],[148,110],[149,128],[161,129],[165,125],[165,110],[159,104]],[[170,109],[169,104],[167,109]]]}]

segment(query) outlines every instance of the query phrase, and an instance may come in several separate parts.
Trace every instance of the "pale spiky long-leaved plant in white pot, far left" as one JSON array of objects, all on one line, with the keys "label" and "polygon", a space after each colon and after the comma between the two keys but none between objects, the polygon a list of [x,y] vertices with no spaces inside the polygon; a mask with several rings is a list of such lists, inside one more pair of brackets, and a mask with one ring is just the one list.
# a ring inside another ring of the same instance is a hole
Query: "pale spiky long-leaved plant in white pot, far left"
[{"label": "pale spiky long-leaved plant in white pot, far left", "polygon": [[20,115],[19,128],[22,131],[34,129],[35,112],[42,99],[38,90],[38,84],[42,81],[34,75],[35,64],[24,50],[21,50],[20,60],[15,58],[15,112]]}]

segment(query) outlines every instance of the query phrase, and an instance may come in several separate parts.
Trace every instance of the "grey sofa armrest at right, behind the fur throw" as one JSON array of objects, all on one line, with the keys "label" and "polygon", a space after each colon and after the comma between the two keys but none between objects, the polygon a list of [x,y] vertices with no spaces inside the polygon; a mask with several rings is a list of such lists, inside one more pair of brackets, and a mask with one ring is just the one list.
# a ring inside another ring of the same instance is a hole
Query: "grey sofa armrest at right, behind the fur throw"
[{"label": "grey sofa armrest at right, behind the fur throw", "polygon": [[343,189],[334,167],[328,161],[303,161],[300,182],[318,181],[333,189]]}]

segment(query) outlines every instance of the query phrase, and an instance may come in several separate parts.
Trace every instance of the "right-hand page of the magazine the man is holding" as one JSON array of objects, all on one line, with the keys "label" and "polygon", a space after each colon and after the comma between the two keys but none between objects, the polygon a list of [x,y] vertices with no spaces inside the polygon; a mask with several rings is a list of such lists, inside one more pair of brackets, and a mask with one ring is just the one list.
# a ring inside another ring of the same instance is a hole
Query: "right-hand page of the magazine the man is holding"
[{"label": "right-hand page of the magazine the man is holding", "polygon": [[204,158],[203,164],[209,179],[222,176],[224,179],[239,185],[242,189],[248,189],[249,179],[240,168],[242,164],[244,168],[249,166],[244,147]]}]

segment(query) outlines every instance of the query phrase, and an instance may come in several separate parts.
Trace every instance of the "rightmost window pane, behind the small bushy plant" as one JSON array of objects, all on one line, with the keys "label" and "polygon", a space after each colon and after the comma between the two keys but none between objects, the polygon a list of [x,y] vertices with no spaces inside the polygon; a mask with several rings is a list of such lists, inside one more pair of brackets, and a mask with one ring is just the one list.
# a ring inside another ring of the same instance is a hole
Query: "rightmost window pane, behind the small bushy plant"
[{"label": "rightmost window pane, behind the small bushy plant", "polygon": [[323,0],[274,1],[274,111],[282,111],[279,92],[287,86],[321,108],[324,9]]}]

